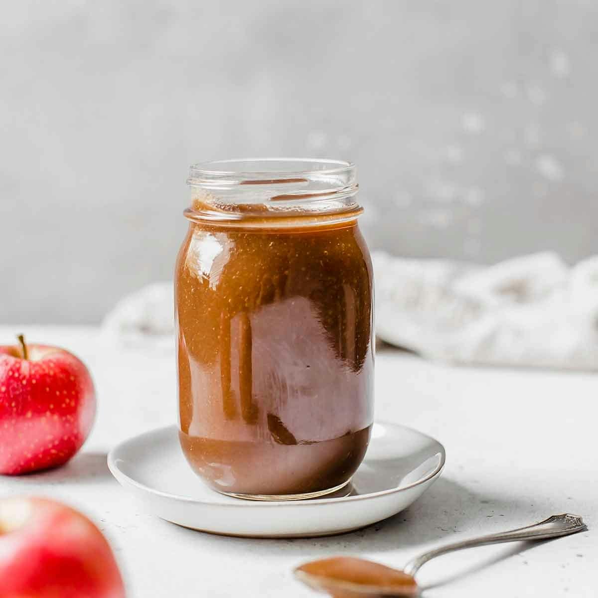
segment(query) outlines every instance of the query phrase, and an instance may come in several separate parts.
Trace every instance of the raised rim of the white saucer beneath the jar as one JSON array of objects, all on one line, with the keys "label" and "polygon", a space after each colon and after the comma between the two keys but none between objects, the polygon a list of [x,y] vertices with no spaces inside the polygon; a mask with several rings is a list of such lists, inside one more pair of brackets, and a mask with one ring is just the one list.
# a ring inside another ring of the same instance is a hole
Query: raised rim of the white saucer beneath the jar
[{"label": "raised rim of the white saucer beneath the jar", "polygon": [[[385,495],[390,495],[390,494],[396,494],[399,492],[405,492],[414,487],[421,486],[422,484],[425,484],[428,481],[434,480],[434,478],[438,477],[438,475],[441,474],[441,472],[444,469],[444,466],[446,465],[446,449],[444,448],[444,444],[442,444],[440,441],[438,441],[436,438],[430,436],[429,434],[425,434],[424,432],[420,432],[416,428],[411,428],[411,426],[405,426],[401,423],[387,422],[384,420],[374,420],[374,425],[376,425],[376,424],[379,424],[382,426],[389,426],[391,428],[402,428],[402,429],[408,430],[410,432],[415,432],[417,435],[423,436],[425,438],[429,438],[429,440],[432,440],[436,444],[438,444],[438,446],[440,447],[440,460],[438,462],[438,465],[434,468],[434,471],[430,472],[428,475],[426,475],[423,478],[420,478],[419,480],[416,480],[414,482],[411,482],[410,484],[407,484],[407,486],[388,488],[386,490],[378,490],[377,492],[370,492],[367,494],[361,494],[361,495],[357,495],[357,496],[338,496],[336,498],[322,497],[322,498],[318,498],[318,499],[312,499],[309,501],[240,501],[240,502],[242,502],[242,504],[239,504],[237,502],[208,502],[208,501],[204,501],[202,499],[191,498],[189,496],[176,495],[176,494],[172,494],[170,492],[163,492],[163,490],[156,490],[156,489],[153,489],[153,488],[147,486],[146,484],[143,484],[137,480],[134,480],[132,477],[130,477],[129,475],[124,473],[120,468],[118,468],[114,453],[115,453],[115,451],[120,449],[120,447],[122,447],[123,444],[129,443],[130,441],[133,441],[133,440],[137,440],[146,435],[156,434],[158,432],[164,432],[164,431],[166,431],[166,429],[169,429],[169,428],[173,428],[176,430],[176,427],[177,427],[176,424],[169,424],[167,426],[160,426],[158,428],[152,428],[151,430],[141,432],[141,434],[136,434],[132,437],[129,437],[129,438],[126,438],[125,440],[120,441],[120,443],[116,444],[115,446],[112,447],[112,449],[110,449],[108,451],[108,456],[106,457],[106,462],[108,464],[108,469],[110,470],[110,473],[115,478],[115,480],[117,480],[118,483],[120,483],[121,485],[124,482],[124,483],[129,484],[130,486],[134,486],[137,489],[142,490],[143,492],[150,493],[151,495],[157,495],[157,496],[160,496],[161,498],[166,498],[169,500],[175,500],[175,501],[179,501],[179,502],[189,502],[191,504],[197,504],[197,505],[209,505],[209,507],[234,507],[234,508],[239,508],[239,507],[270,508],[273,506],[276,506],[276,507],[310,507],[310,506],[316,506],[316,505],[329,505],[329,504],[340,504],[340,503],[345,503],[345,502],[358,502],[360,500],[368,500],[368,499],[377,498],[379,496],[385,496]],[[214,492],[215,495],[219,495],[219,493],[216,492],[215,490],[212,490],[212,492]]]}]

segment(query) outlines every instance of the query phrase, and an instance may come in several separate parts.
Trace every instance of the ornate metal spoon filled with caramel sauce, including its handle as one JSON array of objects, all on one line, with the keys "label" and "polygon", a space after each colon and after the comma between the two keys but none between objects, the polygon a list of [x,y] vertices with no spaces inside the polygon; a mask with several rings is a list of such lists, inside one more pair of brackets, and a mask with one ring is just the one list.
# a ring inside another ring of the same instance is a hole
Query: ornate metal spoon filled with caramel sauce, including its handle
[{"label": "ornate metal spoon filled with caramel sauce, including its handle", "polygon": [[499,542],[544,540],[559,538],[587,530],[578,515],[553,515],[540,523],[509,532],[493,533],[480,538],[454,542],[435,548],[410,560],[401,571],[379,563],[355,557],[332,557],[310,561],[295,569],[295,576],[310,588],[324,591],[333,598],[364,598],[366,596],[418,596],[415,580],[419,568],[434,557],[462,548],[473,548]]}]

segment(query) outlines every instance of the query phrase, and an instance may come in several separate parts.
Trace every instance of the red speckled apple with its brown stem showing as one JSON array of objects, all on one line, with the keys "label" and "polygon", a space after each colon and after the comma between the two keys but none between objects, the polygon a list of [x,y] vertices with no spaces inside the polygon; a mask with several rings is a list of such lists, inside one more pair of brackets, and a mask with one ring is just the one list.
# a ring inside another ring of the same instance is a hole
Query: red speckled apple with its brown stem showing
[{"label": "red speckled apple with its brown stem showing", "polygon": [[0,346],[0,474],[66,463],[90,432],[96,394],[89,371],[65,349]]}]

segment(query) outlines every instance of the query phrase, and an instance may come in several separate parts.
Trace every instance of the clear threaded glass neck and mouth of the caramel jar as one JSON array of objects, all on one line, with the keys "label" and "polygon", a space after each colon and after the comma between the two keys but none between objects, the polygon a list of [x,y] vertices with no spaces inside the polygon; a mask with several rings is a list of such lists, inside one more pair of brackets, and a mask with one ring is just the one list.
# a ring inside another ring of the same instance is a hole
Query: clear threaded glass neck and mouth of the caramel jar
[{"label": "clear threaded glass neck and mouth of the caramel jar", "polygon": [[324,158],[240,158],[191,166],[191,219],[239,221],[361,213],[355,164]]}]

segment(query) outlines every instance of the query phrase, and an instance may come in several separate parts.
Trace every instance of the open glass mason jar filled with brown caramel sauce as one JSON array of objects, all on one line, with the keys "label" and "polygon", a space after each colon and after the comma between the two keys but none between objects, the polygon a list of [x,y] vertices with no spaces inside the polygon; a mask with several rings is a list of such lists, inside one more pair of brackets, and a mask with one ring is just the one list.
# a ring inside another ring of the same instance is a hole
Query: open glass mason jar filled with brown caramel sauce
[{"label": "open glass mason jar filled with brown caramel sauce", "polygon": [[373,277],[355,166],[225,160],[191,167],[176,263],[179,423],[218,492],[334,492],[373,419]]}]

